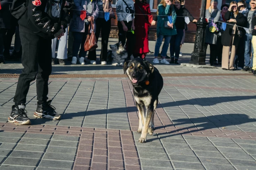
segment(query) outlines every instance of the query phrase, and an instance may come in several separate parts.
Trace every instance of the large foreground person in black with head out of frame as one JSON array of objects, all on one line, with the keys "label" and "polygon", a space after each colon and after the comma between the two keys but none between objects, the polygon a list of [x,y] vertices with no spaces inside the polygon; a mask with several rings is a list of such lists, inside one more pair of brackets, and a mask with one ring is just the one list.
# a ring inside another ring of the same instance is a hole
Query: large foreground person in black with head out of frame
[{"label": "large foreground person in black with head out of frame", "polygon": [[13,100],[15,105],[12,106],[11,115],[8,117],[8,121],[15,125],[31,124],[25,103],[29,85],[35,79],[38,102],[34,117],[60,119],[60,114],[51,106],[51,100],[47,101],[48,80],[52,69],[51,39],[64,36],[68,15],[63,10],[65,1],[58,1],[58,7],[45,12],[48,1],[51,4],[51,0],[27,0],[27,10],[18,21],[24,68],[17,83]]}]

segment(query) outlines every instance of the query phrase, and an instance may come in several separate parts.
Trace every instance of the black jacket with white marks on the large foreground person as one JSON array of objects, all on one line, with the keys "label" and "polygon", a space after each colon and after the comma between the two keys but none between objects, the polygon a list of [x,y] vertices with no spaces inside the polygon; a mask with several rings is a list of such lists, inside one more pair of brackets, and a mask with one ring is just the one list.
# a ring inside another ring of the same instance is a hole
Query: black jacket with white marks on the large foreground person
[{"label": "black jacket with white marks on the large foreground person", "polygon": [[[31,32],[43,38],[56,38],[60,35],[68,24],[67,13],[63,10],[65,1],[63,0],[61,5],[61,14],[57,15],[53,14],[52,7],[46,7],[48,4],[52,6],[52,3],[52,0],[27,0],[27,11],[18,21],[19,25],[23,26],[22,31]],[[64,28],[62,29],[61,26]]]}]

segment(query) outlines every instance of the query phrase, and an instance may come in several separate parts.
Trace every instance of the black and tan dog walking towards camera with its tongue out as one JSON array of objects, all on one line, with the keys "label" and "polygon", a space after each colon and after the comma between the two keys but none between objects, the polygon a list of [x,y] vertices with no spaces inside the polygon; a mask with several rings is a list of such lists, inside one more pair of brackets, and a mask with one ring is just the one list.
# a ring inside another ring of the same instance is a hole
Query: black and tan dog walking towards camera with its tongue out
[{"label": "black and tan dog walking towards camera with its tongue out", "polygon": [[146,142],[147,133],[153,134],[154,113],[158,103],[158,95],[163,88],[163,78],[159,71],[148,61],[135,58],[123,65],[133,84],[133,94],[136,107],[139,110],[139,128],[141,133],[139,142]]}]

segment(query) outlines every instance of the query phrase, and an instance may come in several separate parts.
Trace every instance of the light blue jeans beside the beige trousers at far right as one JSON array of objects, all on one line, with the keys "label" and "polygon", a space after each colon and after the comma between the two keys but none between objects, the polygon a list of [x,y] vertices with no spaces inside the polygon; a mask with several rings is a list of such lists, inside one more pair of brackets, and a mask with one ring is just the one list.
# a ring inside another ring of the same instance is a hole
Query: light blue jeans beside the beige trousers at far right
[{"label": "light blue jeans beside the beige trousers at far right", "polygon": [[251,57],[251,62],[250,62],[250,46],[251,46],[251,53],[252,56],[254,55],[254,49],[252,48],[251,44],[251,39],[252,35],[251,34],[245,34],[245,50],[244,50],[244,60],[245,60],[245,67],[252,67],[253,63],[253,57]]}]

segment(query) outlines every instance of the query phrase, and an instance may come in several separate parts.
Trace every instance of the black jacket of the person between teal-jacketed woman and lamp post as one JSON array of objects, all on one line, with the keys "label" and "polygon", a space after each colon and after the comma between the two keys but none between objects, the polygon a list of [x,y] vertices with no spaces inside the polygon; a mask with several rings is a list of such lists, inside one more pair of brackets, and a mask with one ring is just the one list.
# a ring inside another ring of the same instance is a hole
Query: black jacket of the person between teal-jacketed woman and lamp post
[{"label": "black jacket of the person between teal-jacketed woman and lamp post", "polygon": [[176,29],[185,29],[185,17],[189,17],[189,20],[192,22],[195,18],[189,13],[189,11],[181,5],[180,9],[176,8],[174,5],[174,10],[177,15],[175,22]]}]

